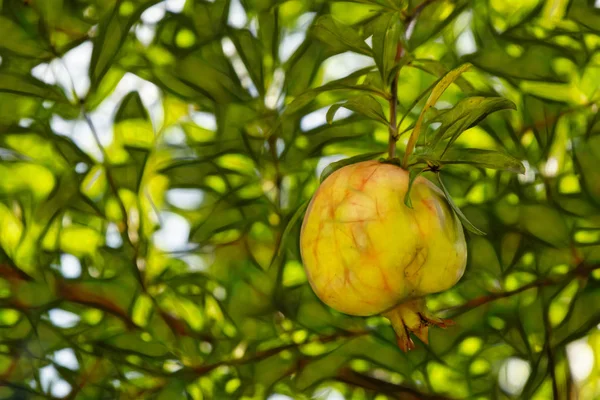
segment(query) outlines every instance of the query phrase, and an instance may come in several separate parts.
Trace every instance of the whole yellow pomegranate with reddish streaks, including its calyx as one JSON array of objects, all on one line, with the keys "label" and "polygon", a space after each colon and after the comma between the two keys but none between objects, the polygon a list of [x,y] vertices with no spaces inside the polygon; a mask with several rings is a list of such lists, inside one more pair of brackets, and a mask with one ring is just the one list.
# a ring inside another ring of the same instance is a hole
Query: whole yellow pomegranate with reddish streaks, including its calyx
[{"label": "whole yellow pomegranate with reddish streaks, including its calyx", "polygon": [[423,296],[454,286],[465,270],[463,228],[443,193],[419,177],[404,204],[408,172],[366,161],[331,174],[315,193],[300,237],[302,259],[319,298],[346,314],[382,314],[403,350],[409,332],[428,341]]}]

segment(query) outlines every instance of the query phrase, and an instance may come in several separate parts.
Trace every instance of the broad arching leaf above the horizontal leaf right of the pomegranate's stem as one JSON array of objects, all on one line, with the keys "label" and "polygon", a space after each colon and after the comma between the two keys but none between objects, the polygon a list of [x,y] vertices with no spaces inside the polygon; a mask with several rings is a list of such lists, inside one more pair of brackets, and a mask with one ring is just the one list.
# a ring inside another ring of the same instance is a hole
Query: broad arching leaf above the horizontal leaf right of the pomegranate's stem
[{"label": "broad arching leaf above the horizontal leaf right of the pomegranate's stem", "polygon": [[503,97],[474,96],[462,99],[456,106],[442,112],[430,122],[439,122],[442,125],[434,133],[434,137],[427,141],[427,146],[435,148],[439,142],[450,139],[450,146],[462,132],[481,122],[489,114],[500,110],[516,110],[516,105]]}]

